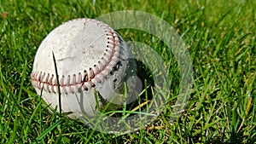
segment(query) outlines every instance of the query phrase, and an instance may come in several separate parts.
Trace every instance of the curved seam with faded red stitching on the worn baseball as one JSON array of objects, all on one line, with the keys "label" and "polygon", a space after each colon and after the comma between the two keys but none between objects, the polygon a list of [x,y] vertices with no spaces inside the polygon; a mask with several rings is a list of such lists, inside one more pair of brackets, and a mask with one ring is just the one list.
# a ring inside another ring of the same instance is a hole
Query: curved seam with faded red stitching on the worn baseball
[{"label": "curved seam with faded red stitching on the worn baseball", "polygon": [[[97,83],[102,83],[102,81],[107,78],[109,72],[113,70],[113,66],[116,66],[119,62],[120,50],[120,39],[116,32],[113,29],[102,23],[101,21],[91,20],[91,19],[78,19],[84,20],[84,22],[92,21],[96,22],[97,26],[101,26],[105,30],[107,37],[107,46],[105,52],[102,55],[101,60],[98,60],[98,63],[89,68],[89,72],[84,70],[84,73],[79,72],[78,74],[71,75],[62,75],[60,79],[60,88],[61,92],[74,93],[78,91],[79,88],[84,89],[85,91],[95,87]],[[74,20],[67,21],[71,22]],[[65,23],[64,23],[65,24]],[[37,89],[44,89],[49,93],[57,93],[58,86],[55,74],[50,74],[46,72],[32,72],[31,73],[32,86]]]}]

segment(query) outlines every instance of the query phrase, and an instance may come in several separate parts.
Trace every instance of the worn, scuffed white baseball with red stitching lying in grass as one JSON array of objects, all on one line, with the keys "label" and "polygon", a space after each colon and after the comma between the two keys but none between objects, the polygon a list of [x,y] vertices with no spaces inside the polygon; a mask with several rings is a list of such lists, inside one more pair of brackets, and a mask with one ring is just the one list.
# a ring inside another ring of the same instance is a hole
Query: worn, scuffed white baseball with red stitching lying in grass
[{"label": "worn, scuffed white baseball with red stitching lying in grass", "polygon": [[61,111],[70,118],[93,116],[107,103],[123,101],[124,83],[136,72],[131,57],[123,38],[107,24],[70,20],[50,32],[39,46],[32,86],[58,110],[60,90]]}]

